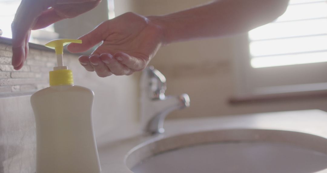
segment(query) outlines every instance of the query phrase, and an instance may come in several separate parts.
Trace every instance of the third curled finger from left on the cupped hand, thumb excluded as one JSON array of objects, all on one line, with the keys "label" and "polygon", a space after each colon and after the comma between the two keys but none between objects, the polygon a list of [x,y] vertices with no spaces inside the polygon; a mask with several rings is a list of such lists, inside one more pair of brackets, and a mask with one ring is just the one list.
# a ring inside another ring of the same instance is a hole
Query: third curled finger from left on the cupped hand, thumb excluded
[{"label": "third curled finger from left on the cupped hand, thumb excluded", "polygon": [[110,54],[103,53],[100,59],[106,64],[110,71],[117,76],[131,74],[131,69],[120,64],[116,59],[114,59]]}]

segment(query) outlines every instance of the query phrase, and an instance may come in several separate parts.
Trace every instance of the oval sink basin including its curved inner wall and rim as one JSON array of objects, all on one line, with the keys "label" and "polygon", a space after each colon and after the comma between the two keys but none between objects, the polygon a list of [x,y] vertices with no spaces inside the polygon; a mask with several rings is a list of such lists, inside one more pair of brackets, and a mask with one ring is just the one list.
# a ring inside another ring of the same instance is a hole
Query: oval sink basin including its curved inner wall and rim
[{"label": "oval sink basin including its curved inner wall and rim", "polygon": [[134,173],[322,173],[327,139],[284,130],[203,131],[137,146],[126,164]]}]

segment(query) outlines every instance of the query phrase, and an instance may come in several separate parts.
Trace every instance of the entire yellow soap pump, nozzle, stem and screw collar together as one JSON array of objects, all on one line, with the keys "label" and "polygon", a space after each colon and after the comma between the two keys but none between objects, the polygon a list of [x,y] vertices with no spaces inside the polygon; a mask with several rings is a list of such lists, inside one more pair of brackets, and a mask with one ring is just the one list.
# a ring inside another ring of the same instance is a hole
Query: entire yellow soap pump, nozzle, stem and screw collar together
[{"label": "entire yellow soap pump, nozzle, stem and screw collar together", "polygon": [[57,54],[57,64],[58,67],[54,67],[54,71],[49,72],[50,86],[58,86],[58,85],[73,85],[73,72],[72,70],[68,70],[67,66],[63,66],[63,46],[69,43],[82,43],[82,40],[74,40],[74,39],[57,39],[52,40],[46,43],[44,46],[48,48],[52,48],[56,50]]}]

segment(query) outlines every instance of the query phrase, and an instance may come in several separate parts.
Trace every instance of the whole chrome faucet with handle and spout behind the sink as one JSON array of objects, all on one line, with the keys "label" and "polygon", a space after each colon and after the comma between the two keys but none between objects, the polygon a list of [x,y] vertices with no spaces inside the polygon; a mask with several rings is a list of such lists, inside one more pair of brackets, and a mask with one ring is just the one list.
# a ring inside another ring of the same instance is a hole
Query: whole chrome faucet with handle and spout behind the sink
[{"label": "whole chrome faucet with handle and spout behind the sink", "polygon": [[166,78],[153,66],[141,75],[141,125],[150,134],[163,133],[163,122],[173,110],[190,106],[187,94],[165,96]]}]

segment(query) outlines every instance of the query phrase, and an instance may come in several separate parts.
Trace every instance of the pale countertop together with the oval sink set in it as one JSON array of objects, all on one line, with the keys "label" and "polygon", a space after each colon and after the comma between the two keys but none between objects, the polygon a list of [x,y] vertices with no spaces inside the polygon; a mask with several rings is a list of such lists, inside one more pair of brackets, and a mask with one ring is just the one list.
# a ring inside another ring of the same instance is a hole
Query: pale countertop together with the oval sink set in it
[{"label": "pale countertop together with the oval sink set in it", "polygon": [[97,141],[103,173],[327,173],[327,112],[172,119],[161,135],[136,123]]}]

